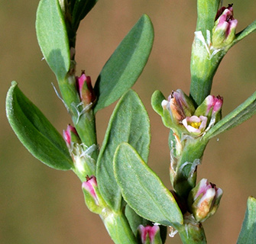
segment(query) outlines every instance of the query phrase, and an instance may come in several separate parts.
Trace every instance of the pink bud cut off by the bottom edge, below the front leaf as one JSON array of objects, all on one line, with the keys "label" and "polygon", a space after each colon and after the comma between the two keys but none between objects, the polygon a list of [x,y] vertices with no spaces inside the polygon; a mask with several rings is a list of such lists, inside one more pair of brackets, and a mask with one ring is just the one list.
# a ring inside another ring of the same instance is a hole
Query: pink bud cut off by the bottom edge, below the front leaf
[{"label": "pink bud cut off by the bottom edge, below the front leaf", "polygon": [[[160,233],[160,228],[157,225],[154,226],[143,226],[143,225],[139,225],[138,226],[138,232],[141,235],[141,242],[142,244],[145,243],[158,243],[155,238],[157,233]],[[160,235],[159,235],[160,237]]]}]

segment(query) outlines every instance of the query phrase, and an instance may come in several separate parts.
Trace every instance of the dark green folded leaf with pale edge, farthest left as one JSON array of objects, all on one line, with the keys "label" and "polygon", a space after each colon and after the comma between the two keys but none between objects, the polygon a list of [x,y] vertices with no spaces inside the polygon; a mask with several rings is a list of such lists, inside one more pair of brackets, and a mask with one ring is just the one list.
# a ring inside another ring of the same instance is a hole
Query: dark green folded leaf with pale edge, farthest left
[{"label": "dark green folded leaf with pale edge, farthest left", "polygon": [[63,137],[44,114],[11,83],[6,98],[6,114],[12,130],[31,154],[53,169],[71,169],[73,161]]}]

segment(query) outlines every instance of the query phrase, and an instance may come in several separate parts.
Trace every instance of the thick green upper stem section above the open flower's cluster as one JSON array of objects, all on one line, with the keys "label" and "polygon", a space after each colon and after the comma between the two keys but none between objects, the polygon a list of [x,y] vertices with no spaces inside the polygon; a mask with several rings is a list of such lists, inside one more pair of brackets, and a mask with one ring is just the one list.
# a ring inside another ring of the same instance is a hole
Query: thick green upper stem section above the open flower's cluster
[{"label": "thick green upper stem section above the open flower's cluster", "polygon": [[[213,76],[224,56],[222,52],[216,53],[214,56],[209,53],[209,42],[212,41],[212,28],[219,2],[220,0],[197,0],[196,31],[197,33],[201,32],[202,36],[201,39],[195,36],[190,63],[190,97],[193,98],[197,106],[209,95]],[[209,30],[210,40],[207,40],[207,30]]]}]

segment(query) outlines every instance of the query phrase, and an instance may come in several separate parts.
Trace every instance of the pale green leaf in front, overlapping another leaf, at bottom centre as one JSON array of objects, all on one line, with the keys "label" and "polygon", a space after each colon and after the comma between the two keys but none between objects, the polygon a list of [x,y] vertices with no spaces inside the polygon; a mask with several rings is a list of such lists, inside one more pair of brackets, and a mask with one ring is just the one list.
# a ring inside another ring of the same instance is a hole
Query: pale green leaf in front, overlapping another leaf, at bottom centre
[{"label": "pale green leaf in front, overlapping another leaf, at bottom centre", "polygon": [[179,229],[183,215],[173,195],[128,143],[116,149],[114,172],[125,201],[138,215]]}]

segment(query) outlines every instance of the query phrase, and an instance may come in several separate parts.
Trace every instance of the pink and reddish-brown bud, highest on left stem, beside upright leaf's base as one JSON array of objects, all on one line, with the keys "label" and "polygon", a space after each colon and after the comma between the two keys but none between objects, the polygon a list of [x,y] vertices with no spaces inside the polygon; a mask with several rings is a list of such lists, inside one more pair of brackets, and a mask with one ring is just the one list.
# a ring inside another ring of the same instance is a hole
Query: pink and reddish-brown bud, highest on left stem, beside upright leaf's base
[{"label": "pink and reddish-brown bud, highest on left stem, beside upright leaf's base", "polygon": [[79,91],[79,97],[85,104],[90,104],[95,101],[95,95],[92,88],[92,81],[90,76],[86,76],[82,71],[81,76],[76,77],[76,85]]}]

